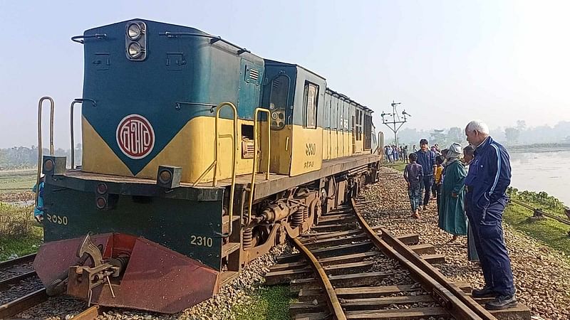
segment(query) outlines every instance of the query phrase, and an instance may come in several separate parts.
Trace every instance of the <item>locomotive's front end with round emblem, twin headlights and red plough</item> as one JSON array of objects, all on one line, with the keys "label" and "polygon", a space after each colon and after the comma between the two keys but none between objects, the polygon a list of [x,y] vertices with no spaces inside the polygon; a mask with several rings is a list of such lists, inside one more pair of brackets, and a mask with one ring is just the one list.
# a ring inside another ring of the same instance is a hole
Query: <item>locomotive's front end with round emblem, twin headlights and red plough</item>
[{"label": "locomotive's front end with round emblem, twin headlights and red plough", "polygon": [[[61,170],[62,159],[43,159],[45,243],[34,268],[48,293],[162,313],[217,294],[222,250],[231,253],[228,195],[204,186],[212,172],[196,182],[212,161],[212,102],[237,101],[214,83],[211,61],[233,78],[240,67],[235,54],[216,57],[211,38],[141,19],[73,37],[85,47],[83,163]],[[220,134],[231,133],[231,113],[220,117]]]}]

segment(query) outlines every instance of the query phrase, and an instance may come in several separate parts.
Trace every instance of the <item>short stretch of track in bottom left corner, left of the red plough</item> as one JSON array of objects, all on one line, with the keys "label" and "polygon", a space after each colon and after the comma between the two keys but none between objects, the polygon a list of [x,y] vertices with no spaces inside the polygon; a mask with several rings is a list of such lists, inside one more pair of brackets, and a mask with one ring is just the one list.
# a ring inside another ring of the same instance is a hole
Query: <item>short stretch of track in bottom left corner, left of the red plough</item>
[{"label": "short stretch of track in bottom left corner, left of the red plough", "polygon": [[41,304],[48,299],[31,262],[36,254],[0,262],[0,319]]}]

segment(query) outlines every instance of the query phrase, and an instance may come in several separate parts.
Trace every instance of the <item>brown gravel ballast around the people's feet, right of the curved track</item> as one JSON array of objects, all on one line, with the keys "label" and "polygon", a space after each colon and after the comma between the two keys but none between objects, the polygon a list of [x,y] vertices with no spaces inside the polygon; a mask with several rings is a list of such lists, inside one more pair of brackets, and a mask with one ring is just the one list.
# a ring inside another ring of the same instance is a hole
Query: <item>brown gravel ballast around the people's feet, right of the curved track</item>
[{"label": "brown gravel ballast around the people's feet, right of the curved track", "polygon": [[[450,242],[451,235],[437,227],[435,201],[420,211],[421,219],[410,218],[408,191],[402,174],[380,168],[380,183],[365,186],[366,203],[361,211],[370,225],[383,225],[395,235],[418,233],[421,243],[435,246],[445,255],[445,264],[437,265],[454,281],[472,287],[483,284],[480,266],[467,260],[467,238]],[[504,225],[504,238],[512,262],[517,299],[527,305],[533,316],[544,319],[570,319],[570,259],[561,252]],[[537,318],[539,319],[539,318]]]}]

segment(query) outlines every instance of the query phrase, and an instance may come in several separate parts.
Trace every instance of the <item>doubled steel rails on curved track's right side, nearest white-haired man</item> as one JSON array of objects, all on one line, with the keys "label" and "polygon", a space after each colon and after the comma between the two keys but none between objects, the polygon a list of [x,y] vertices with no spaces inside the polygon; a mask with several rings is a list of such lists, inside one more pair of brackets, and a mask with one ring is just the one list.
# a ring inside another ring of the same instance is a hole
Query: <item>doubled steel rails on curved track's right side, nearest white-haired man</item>
[{"label": "doubled steel rails on curved track's right side, nearest white-haired man", "polygon": [[358,223],[373,244],[385,255],[397,260],[400,265],[409,270],[423,289],[432,292],[435,300],[455,319],[497,319],[393,235],[382,229],[382,238],[378,237],[358,212],[354,199],[351,199],[351,204]]}]

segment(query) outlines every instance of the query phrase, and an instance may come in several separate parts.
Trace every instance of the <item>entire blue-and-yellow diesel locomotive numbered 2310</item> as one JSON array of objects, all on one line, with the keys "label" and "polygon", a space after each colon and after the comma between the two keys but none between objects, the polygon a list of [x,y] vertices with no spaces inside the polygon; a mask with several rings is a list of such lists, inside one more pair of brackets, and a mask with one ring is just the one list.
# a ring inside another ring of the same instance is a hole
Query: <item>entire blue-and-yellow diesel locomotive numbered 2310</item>
[{"label": "entire blue-and-yellow diesel locomotive numbered 2310", "polygon": [[181,311],[377,179],[372,110],[306,68],[139,18],[72,40],[83,155],[41,160],[48,294]]}]

